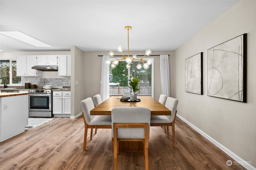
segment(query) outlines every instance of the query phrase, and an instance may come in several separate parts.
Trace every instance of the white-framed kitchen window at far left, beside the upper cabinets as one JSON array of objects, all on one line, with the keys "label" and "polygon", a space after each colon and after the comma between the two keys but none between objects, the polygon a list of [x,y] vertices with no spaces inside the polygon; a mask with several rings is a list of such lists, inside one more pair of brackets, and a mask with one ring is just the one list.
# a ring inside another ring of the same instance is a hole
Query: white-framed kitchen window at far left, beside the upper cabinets
[{"label": "white-framed kitchen window at far left, beside the upper cabinets", "polygon": [[[8,85],[21,85],[21,77],[16,76],[16,61],[0,60],[0,77],[5,79],[5,84]],[[0,86],[4,85],[4,81]]]}]

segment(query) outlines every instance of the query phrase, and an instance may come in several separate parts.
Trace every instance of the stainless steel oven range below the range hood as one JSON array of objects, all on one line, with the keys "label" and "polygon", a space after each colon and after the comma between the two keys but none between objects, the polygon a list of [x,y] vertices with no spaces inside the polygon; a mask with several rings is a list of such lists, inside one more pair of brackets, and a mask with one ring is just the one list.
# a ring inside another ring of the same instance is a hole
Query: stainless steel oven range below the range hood
[{"label": "stainless steel oven range below the range hood", "polygon": [[52,90],[28,90],[28,117],[52,117]]}]

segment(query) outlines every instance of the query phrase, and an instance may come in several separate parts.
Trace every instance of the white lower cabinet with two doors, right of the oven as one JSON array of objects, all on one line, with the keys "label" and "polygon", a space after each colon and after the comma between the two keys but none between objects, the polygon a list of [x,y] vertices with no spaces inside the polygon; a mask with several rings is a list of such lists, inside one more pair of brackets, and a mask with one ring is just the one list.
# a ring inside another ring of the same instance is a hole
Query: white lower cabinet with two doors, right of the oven
[{"label": "white lower cabinet with two doors, right of the oven", "polygon": [[71,114],[71,92],[55,91],[52,93],[52,114],[54,117],[70,116]]}]

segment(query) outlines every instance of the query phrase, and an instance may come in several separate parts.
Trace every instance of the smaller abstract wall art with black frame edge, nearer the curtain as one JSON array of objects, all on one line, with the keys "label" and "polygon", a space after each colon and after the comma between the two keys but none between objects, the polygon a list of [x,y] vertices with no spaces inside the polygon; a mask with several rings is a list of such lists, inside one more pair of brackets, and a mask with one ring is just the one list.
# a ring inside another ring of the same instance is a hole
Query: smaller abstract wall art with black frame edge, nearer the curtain
[{"label": "smaller abstract wall art with black frame edge, nearer the curtain", "polygon": [[203,53],[185,59],[185,92],[203,94]]}]

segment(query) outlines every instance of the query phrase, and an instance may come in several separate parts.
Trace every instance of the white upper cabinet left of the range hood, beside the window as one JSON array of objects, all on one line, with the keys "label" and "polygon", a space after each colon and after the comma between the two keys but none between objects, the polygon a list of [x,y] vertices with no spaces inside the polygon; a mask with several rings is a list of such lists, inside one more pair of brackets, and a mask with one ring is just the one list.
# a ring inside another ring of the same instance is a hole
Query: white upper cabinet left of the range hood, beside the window
[{"label": "white upper cabinet left of the range hood, beside the window", "polygon": [[36,65],[36,55],[20,56],[16,59],[16,75],[17,76],[43,76],[41,70],[32,69]]}]

